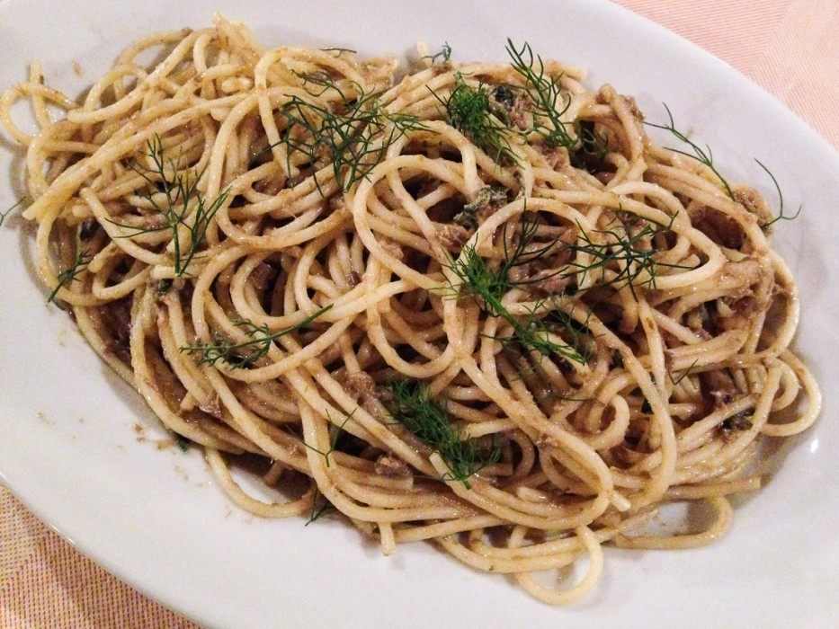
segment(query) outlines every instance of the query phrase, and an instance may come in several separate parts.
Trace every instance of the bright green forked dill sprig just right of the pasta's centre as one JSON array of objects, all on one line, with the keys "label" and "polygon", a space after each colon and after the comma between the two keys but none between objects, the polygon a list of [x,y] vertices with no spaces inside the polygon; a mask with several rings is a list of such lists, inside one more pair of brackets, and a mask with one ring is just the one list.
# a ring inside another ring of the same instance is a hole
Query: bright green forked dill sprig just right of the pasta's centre
[{"label": "bright green forked dill sprig just right of the pasta's centre", "polygon": [[[499,338],[502,342],[515,342],[523,350],[537,350],[543,356],[556,354],[561,358],[585,364],[585,356],[573,345],[565,341],[554,340],[556,335],[548,323],[540,317],[545,302],[538,302],[523,319],[510,313],[504,306],[504,295],[512,288],[522,288],[540,279],[513,279],[511,271],[519,266],[537,261],[558,245],[558,239],[544,245],[531,246],[539,230],[538,220],[522,219],[518,242],[511,249],[504,226],[504,261],[497,267],[488,264],[478,253],[474,244],[468,245],[460,258],[451,261],[449,268],[458,278],[455,285],[450,283],[449,290],[458,297],[471,295],[477,297],[478,305],[489,316],[501,317],[513,328],[513,337]],[[558,271],[559,273],[560,271]]]}]

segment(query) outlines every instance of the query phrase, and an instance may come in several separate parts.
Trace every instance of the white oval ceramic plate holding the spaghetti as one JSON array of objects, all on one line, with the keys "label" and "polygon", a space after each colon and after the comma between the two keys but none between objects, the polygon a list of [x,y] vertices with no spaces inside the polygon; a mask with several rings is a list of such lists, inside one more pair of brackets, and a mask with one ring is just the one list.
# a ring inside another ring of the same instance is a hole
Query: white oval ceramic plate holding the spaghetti
[{"label": "white oval ceramic plate holding the spaghetti", "polygon": [[[75,4],[70,8],[71,4]],[[228,507],[197,452],[158,450],[164,433],[105,368],[67,316],[44,305],[28,260],[31,237],[0,229],[0,479],[58,532],[138,589],[201,623],[264,626],[822,627],[839,617],[839,382],[835,240],[839,158],[754,84],[700,49],[611,4],[585,0],[476,2],[87,0],[0,2],[0,86],[40,58],[69,93],[101,75],[149,32],[203,26],[219,8],[265,44],[343,45],[402,53],[447,40],[456,58],[504,58],[504,38],[591,68],[636,94],[652,120],[666,101],[714,148],[732,180],[779,176],[802,217],[779,247],[801,284],[799,350],[827,388],[817,426],[779,474],[736,511],[721,543],[695,551],[606,551],[601,587],[585,604],[546,607],[500,576],[476,574],[431,546],[379,555],[335,521],[261,521]],[[725,28],[719,24],[719,28]],[[77,61],[84,75],[77,76]],[[19,173],[0,151],[0,208]],[[12,226],[19,226],[16,220]],[[138,435],[134,425],[145,427]],[[144,442],[138,442],[145,439]]]}]

